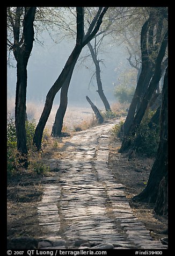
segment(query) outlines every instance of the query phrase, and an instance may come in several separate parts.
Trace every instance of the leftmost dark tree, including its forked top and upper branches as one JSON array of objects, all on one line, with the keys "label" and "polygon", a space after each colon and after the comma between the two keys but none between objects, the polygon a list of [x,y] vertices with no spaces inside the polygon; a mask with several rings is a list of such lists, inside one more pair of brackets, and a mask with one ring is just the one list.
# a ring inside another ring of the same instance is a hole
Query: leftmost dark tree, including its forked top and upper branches
[{"label": "leftmost dark tree, including its forked top and upper branches", "polygon": [[23,155],[25,167],[27,167],[25,130],[27,63],[33,48],[35,11],[36,7],[8,7],[8,22],[13,32],[13,42],[8,38],[8,46],[13,50],[14,58],[17,61],[15,102],[17,149]]}]

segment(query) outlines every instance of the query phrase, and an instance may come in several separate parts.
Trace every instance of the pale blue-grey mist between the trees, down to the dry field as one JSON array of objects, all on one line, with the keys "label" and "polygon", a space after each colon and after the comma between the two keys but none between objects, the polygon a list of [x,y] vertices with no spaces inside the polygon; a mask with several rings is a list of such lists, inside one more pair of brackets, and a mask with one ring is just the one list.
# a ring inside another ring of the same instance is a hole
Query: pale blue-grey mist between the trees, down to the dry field
[{"label": "pale blue-grey mist between the trees, down to the dry field", "polygon": [[[38,39],[43,45],[36,41],[34,41],[33,44],[32,53],[27,66],[26,102],[28,118],[35,118],[37,122],[41,116],[46,95],[60,75],[76,42],[74,39],[64,38],[61,42],[56,43],[50,38],[47,31],[43,31],[42,37],[40,36]],[[59,41],[59,38],[57,40]],[[84,56],[87,55],[90,55],[88,46],[83,48],[72,75],[68,91],[69,111],[72,108],[85,108],[85,111],[88,111],[87,113],[92,113],[91,106],[85,98],[87,95],[100,110],[104,110],[104,105],[96,91],[97,82],[96,75],[94,75],[95,66],[91,55],[84,59]],[[133,69],[129,66],[127,60],[128,53],[126,47],[124,45],[117,45],[111,40],[110,36],[107,36],[103,40],[103,51],[99,53],[98,58],[103,60],[103,63],[100,62],[100,75],[104,93],[110,104],[116,103],[117,100],[114,96],[114,86],[120,82],[120,75],[124,70]],[[12,61],[12,65],[14,67],[8,66],[7,72],[7,96],[8,112],[11,112],[13,116],[17,81],[15,60]],[[50,126],[54,122],[56,110],[60,104],[60,91],[54,99],[53,109],[50,113],[52,120],[48,120]],[[33,105],[33,108],[37,111],[37,116],[33,116],[33,113],[30,113],[29,105]],[[65,118],[66,117],[67,116],[65,116]]]}]

